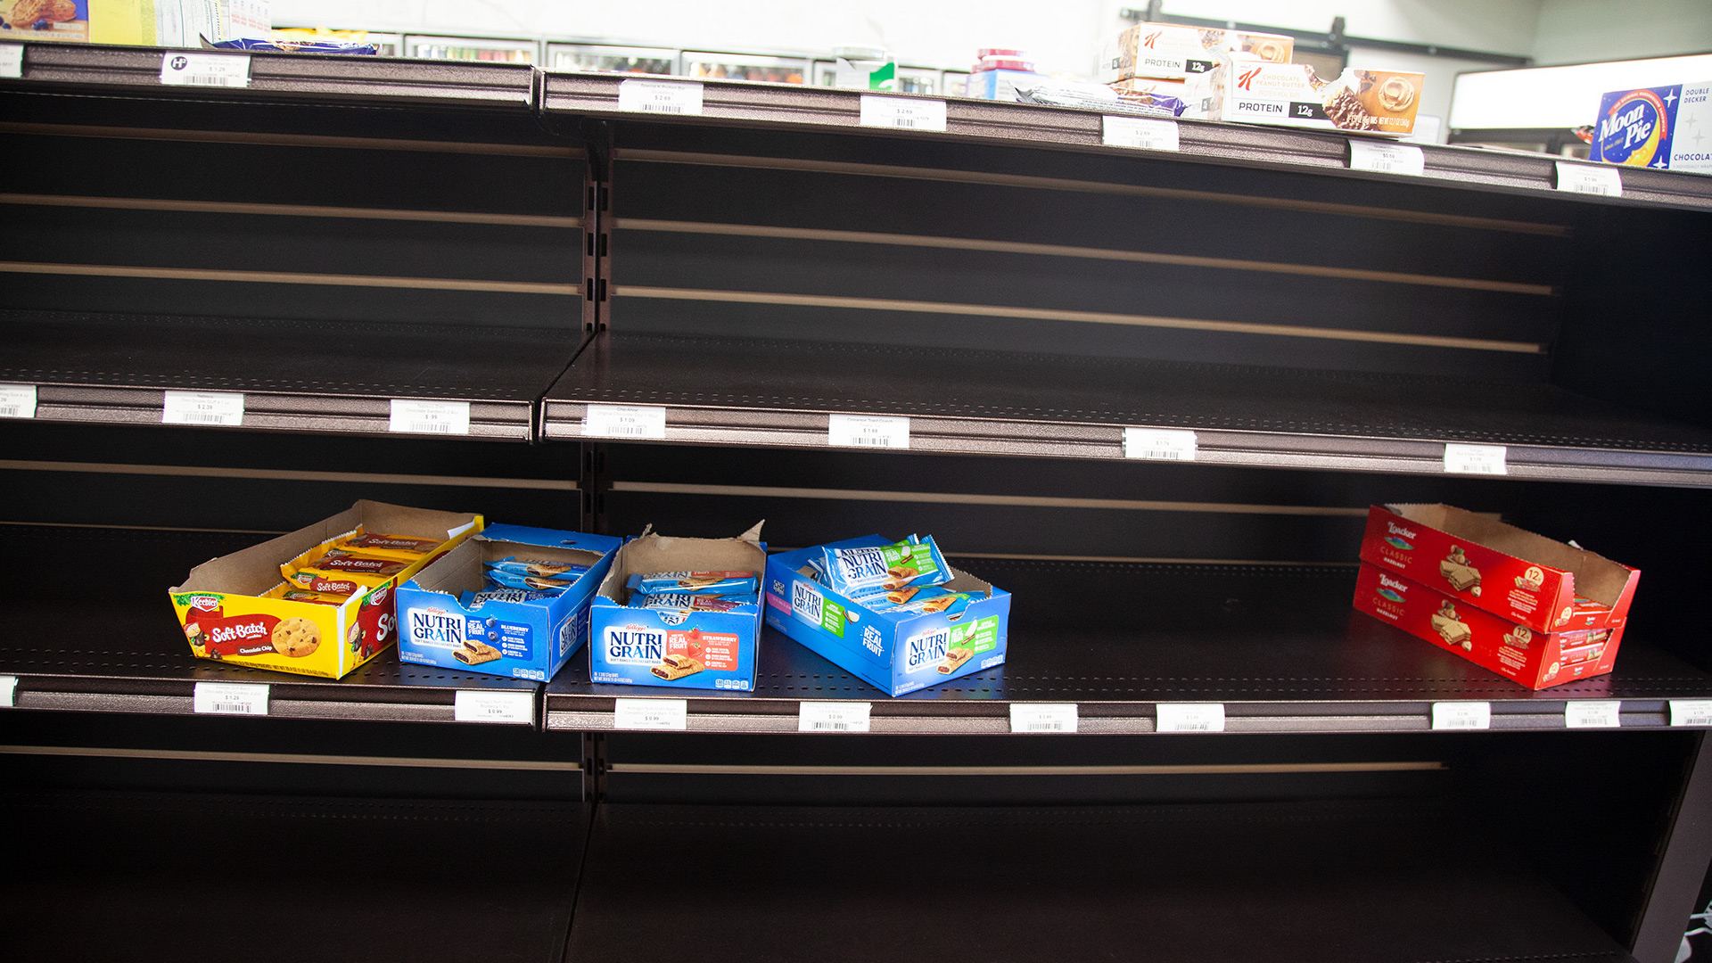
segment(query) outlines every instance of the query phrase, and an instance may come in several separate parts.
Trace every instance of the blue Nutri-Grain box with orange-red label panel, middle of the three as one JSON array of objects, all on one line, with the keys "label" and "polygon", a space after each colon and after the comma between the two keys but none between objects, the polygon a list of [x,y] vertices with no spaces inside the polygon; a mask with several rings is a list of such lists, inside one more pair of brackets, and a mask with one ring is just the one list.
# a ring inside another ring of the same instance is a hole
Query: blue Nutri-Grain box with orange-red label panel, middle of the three
[{"label": "blue Nutri-Grain box with orange-red label panel, middle of the three", "polygon": [[[669,538],[652,531],[625,541],[589,607],[589,679],[668,689],[755,691],[760,646],[758,595],[693,601],[693,583],[767,569],[762,523],[736,538]],[[644,596],[630,576],[676,572],[685,591]],[[698,577],[705,576],[705,577]],[[736,576],[731,576],[736,577]]]}]

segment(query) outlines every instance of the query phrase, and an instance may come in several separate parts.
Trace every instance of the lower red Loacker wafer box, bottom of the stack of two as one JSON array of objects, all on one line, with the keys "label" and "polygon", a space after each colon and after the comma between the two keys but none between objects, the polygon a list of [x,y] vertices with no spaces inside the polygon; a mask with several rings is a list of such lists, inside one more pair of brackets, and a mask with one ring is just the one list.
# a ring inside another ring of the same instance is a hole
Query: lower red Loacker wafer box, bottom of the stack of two
[{"label": "lower red Loacker wafer box, bottom of the stack of two", "polygon": [[1623,641],[1623,625],[1534,632],[1368,562],[1356,576],[1356,608],[1529,689],[1611,672]]}]

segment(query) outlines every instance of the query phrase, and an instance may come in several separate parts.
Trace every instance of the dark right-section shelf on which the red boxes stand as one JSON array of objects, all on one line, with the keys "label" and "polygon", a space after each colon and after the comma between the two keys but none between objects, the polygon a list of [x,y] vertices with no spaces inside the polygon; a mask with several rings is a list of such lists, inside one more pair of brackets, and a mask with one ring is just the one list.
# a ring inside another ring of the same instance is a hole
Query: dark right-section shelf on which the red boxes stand
[{"label": "dark right-section shelf on which the red boxes stand", "polygon": [[1085,733],[1154,732],[1157,703],[1222,703],[1226,732],[1423,732],[1440,701],[1563,730],[1565,701],[1621,699],[1625,728],[1657,728],[1669,699],[1712,697],[1712,675],[1637,632],[1616,672],[1531,691],[1354,612],[1347,565],[955,562],[1014,593],[1007,665],[889,699],[769,627],[755,692],[594,685],[574,660],[548,728],[613,728],[618,696],[688,699],[692,732],[796,732],[805,701],[871,701],[877,733],[1005,733],[1012,703],[1075,703]]}]

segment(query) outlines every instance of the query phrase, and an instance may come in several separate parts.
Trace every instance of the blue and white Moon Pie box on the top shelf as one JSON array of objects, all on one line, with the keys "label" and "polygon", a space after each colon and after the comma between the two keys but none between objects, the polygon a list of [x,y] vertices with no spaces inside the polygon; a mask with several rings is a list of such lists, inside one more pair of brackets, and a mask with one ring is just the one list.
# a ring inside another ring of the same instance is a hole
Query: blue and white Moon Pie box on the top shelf
[{"label": "blue and white Moon Pie box on the top shelf", "polygon": [[1712,81],[1599,98],[1589,159],[1712,173]]}]

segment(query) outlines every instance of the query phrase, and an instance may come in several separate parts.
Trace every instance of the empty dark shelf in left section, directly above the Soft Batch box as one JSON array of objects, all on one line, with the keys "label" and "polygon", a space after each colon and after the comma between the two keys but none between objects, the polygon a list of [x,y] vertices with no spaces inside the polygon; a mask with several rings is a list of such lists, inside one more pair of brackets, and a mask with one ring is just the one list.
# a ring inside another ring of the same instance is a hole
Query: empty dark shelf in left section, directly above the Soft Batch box
[{"label": "empty dark shelf in left section, directly above the Soft Batch box", "polygon": [[392,401],[467,401],[473,439],[529,440],[580,331],[0,310],[0,382],[36,418],[159,425],[163,392],[243,392],[243,428],[387,434]]}]

